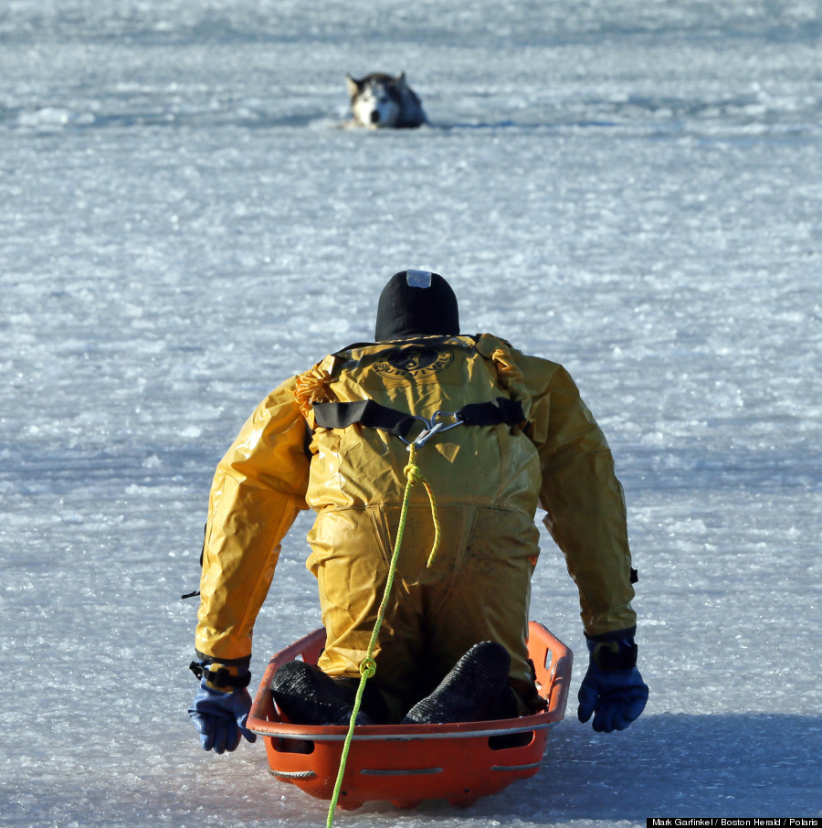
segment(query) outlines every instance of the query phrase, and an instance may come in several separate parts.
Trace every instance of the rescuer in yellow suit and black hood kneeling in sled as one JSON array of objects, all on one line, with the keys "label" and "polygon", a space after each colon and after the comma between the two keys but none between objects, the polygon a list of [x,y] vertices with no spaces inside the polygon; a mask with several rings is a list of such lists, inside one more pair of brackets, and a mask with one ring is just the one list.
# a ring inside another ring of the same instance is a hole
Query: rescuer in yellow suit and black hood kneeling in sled
[{"label": "rescuer in yellow suit and black hood kneeling in sled", "polygon": [[318,667],[281,668],[274,693],[292,720],[347,721],[395,545],[407,443],[420,429],[430,433],[417,463],[441,539],[427,565],[435,530],[415,486],[360,723],[538,706],[525,635],[541,505],[580,593],[590,663],[579,716],[595,714],[597,730],[627,727],[648,688],[636,667],[625,504],[573,380],[492,334],[460,335],[448,282],[427,271],[388,282],[375,340],[272,391],[216,470],[192,664],[201,681],[189,710],[203,746],[222,752],[240,733],[254,739],[245,728],[254,622],[280,541],[309,507],[307,566],[326,646]]}]

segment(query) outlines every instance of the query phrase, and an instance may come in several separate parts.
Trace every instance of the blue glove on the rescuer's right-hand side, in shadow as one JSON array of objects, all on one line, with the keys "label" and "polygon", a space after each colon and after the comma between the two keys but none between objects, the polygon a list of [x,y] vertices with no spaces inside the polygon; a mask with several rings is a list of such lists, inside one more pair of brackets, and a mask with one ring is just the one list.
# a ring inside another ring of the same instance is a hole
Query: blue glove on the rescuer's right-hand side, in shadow
[{"label": "blue glove on the rescuer's right-hand side, in shadow", "polygon": [[645,709],[648,685],[637,669],[637,645],[634,636],[626,634],[609,641],[587,638],[590,661],[579,688],[581,722],[593,714],[597,733],[611,733],[625,728]]}]

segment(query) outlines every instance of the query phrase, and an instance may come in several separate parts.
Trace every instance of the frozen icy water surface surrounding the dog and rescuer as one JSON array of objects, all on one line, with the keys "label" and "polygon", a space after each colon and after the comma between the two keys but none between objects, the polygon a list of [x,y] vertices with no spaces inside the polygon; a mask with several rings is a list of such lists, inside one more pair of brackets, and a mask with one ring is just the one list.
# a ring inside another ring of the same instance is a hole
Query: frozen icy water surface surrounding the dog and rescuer
[{"label": "frozen icy water surface surrounding the dog and rescuer", "polygon": [[[822,812],[816,0],[7,0],[0,823],[324,823],[185,715],[217,460],[407,267],[569,368],[612,443],[651,697],[539,775],[340,825]],[[433,126],[335,128],[405,70]],[[254,671],[318,623],[300,518]],[[545,536],[532,615],[584,652]],[[584,660],[574,674],[572,699]]]}]

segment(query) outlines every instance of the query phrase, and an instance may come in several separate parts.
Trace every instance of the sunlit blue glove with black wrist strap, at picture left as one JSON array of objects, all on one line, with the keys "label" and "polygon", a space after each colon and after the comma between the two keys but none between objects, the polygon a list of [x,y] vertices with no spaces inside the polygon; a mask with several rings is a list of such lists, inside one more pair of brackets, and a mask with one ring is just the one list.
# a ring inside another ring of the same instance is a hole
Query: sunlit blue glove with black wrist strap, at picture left
[{"label": "sunlit blue glove with black wrist strap, at picture left", "polygon": [[256,742],[257,734],[246,727],[251,710],[251,696],[246,689],[251,679],[248,667],[231,674],[226,668],[209,670],[209,664],[193,662],[191,670],[200,678],[200,687],[188,715],[203,749],[215,753],[236,750],[240,736]]}]

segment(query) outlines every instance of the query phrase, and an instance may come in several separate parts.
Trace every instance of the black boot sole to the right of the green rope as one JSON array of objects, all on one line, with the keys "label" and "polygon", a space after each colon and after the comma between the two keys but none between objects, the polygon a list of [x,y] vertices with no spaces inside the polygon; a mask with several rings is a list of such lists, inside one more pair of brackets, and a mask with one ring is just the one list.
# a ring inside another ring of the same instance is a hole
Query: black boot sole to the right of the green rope
[{"label": "black boot sole to the right of the green rope", "polygon": [[501,644],[474,644],[437,689],[406,713],[401,724],[436,725],[515,716],[511,710],[516,710],[516,701],[508,684],[510,669],[511,656]]}]

